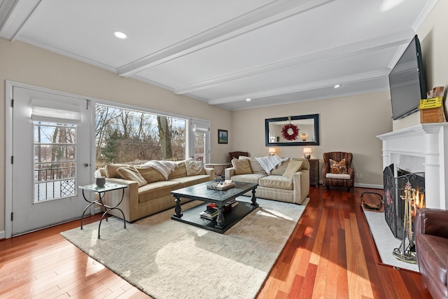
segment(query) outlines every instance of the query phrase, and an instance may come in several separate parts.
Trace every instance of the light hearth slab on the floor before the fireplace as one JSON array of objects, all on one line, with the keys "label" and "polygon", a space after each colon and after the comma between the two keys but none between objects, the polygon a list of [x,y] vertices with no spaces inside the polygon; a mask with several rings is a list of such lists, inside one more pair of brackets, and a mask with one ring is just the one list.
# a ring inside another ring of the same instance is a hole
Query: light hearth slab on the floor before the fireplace
[{"label": "light hearth slab on the floor before the fireplace", "polygon": [[400,247],[401,240],[393,237],[393,233],[384,218],[384,212],[365,211],[365,209],[363,211],[369,224],[370,232],[372,232],[374,242],[377,245],[381,262],[386,265],[400,267],[401,269],[419,272],[418,265],[397,260],[393,256],[393,249]]}]

